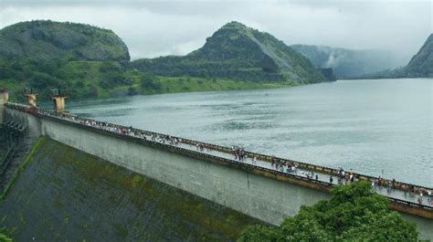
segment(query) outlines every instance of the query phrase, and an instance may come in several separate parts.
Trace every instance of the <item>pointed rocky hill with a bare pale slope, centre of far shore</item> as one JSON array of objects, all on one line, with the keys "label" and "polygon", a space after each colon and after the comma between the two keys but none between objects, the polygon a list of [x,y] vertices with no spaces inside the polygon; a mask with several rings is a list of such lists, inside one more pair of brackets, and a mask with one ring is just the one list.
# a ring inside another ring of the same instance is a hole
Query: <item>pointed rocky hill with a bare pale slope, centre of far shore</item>
[{"label": "pointed rocky hill with a bare pale slope, centre of far shore", "polygon": [[203,47],[186,56],[138,59],[132,66],[162,76],[294,83],[327,80],[307,58],[276,37],[238,22],[222,26]]}]

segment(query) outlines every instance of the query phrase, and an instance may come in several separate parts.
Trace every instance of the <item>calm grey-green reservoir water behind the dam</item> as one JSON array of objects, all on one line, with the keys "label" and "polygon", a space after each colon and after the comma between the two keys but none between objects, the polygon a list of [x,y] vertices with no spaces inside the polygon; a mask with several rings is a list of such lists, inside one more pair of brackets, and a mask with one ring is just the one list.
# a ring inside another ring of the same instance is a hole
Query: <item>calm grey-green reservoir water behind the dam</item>
[{"label": "calm grey-green reservoir water behind the dam", "polygon": [[69,110],[203,142],[433,186],[433,79],[69,103]]}]

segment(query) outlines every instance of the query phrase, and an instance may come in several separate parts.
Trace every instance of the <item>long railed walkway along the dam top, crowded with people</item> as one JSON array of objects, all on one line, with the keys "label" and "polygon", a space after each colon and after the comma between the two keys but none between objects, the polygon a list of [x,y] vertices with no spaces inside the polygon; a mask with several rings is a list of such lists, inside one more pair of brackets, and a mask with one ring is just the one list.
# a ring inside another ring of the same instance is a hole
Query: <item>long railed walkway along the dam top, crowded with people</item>
[{"label": "long railed walkway along the dam top, crowded with people", "polygon": [[[174,137],[163,133],[143,131],[104,121],[95,121],[70,113],[57,115],[55,112],[49,110],[32,110],[26,105],[17,103],[7,103],[6,107],[30,112],[41,118],[74,123],[75,125],[96,129],[100,132],[110,132],[115,135],[121,135],[145,142],[182,148],[194,153],[219,157],[236,165],[259,168],[272,174],[301,179],[307,183],[322,184],[332,187],[336,184],[345,184],[356,180],[366,180],[372,184],[376,193],[387,196],[396,204],[415,206],[429,211],[433,210],[433,197],[431,196],[431,191],[433,189],[426,186],[407,184],[395,180],[387,180],[382,177],[356,174],[353,171],[344,171],[343,169],[333,169],[311,163],[301,163],[280,157],[252,153],[243,151],[239,147],[229,148],[216,144]],[[8,122],[7,117],[5,122]]]}]

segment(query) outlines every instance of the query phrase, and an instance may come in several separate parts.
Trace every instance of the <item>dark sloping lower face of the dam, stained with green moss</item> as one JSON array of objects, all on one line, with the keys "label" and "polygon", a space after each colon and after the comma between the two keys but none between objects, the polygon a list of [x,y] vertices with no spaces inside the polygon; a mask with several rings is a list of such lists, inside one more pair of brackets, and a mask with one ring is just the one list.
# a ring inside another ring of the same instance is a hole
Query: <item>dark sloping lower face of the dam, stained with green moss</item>
[{"label": "dark sloping lower face of the dam, stained with green moss", "polygon": [[256,219],[52,141],[38,140],[0,203],[16,240],[235,240]]}]

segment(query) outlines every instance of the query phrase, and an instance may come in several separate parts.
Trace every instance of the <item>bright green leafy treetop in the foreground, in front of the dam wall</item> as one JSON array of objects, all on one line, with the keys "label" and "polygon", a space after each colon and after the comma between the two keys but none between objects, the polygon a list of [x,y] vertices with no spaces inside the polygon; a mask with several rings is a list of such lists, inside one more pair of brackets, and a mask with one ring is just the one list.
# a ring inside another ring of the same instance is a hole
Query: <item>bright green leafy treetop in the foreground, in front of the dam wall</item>
[{"label": "bright green leafy treetop in the foreground, in front of the dam wall", "polygon": [[330,200],[301,206],[280,226],[250,226],[239,241],[417,241],[415,224],[388,208],[370,184],[338,185]]}]

